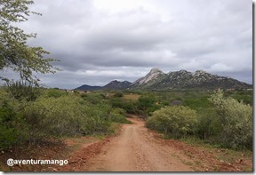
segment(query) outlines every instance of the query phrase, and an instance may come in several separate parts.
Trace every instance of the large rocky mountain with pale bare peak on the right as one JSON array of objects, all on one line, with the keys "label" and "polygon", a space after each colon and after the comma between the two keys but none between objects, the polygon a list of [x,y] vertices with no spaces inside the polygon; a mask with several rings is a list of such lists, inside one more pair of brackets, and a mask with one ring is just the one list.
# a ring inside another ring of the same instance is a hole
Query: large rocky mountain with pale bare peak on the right
[{"label": "large rocky mountain with pale bare peak on the right", "polygon": [[141,77],[129,86],[129,89],[140,90],[172,90],[172,89],[248,89],[251,84],[239,82],[234,78],[212,75],[204,70],[188,72],[180,70],[164,74],[153,68],[148,75]]}]

